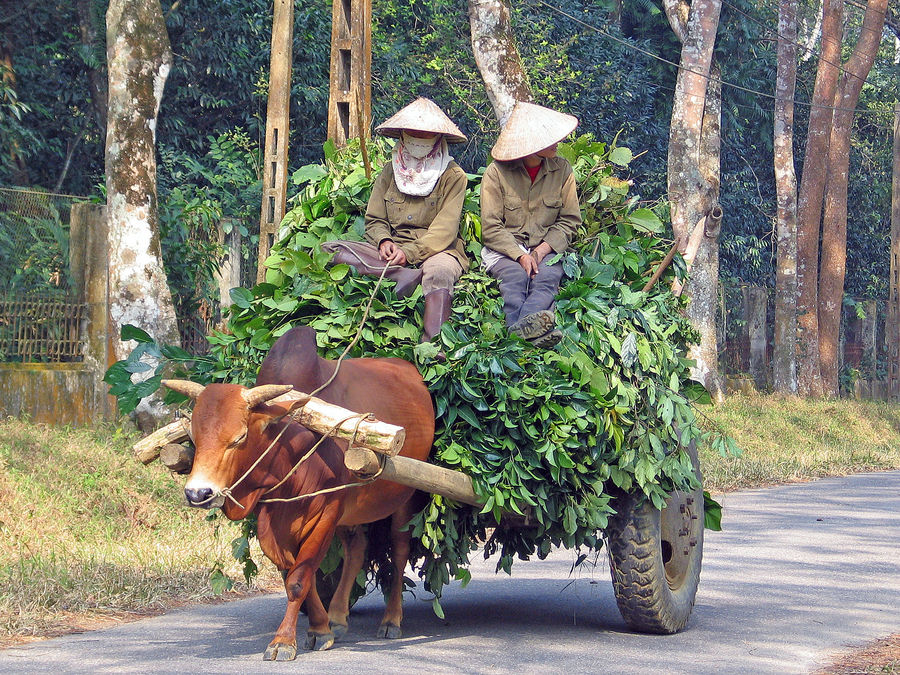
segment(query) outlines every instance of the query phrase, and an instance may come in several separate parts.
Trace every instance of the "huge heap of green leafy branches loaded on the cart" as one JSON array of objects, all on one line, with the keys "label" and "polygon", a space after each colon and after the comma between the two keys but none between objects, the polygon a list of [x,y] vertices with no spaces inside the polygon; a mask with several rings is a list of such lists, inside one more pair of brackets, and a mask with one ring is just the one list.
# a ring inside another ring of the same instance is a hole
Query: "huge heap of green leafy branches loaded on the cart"
[{"label": "huge heap of green leafy branches loaded on the cart", "polygon": [[[369,154],[376,167],[386,161],[380,143]],[[229,331],[210,336],[212,360],[198,373],[249,384],[272,343],[296,325],[314,328],[320,351],[336,358],[374,292],[350,356],[418,365],[436,404],[432,461],[471,476],[484,499],[477,509],[432,495],[413,522],[414,557],[438,596],[451,577],[468,578],[468,554],[489,528],[486,551],[500,551],[498,567],[509,571],[514,556],[543,557],[553,545],[600,548],[617,490],[639,491],[661,507],[668,492],[694,480],[675,430],[683,443],[701,435],[690,399],[703,390],[688,379],[684,358],[695,335],[665,278],[642,290],[668,250],[662,223],[614,175],[631,161],[627,148],[582,137],[560,154],[575,169],[585,222],[577,253],[559,260],[567,273],[557,302],[565,337],[555,350],[506,331],[496,283],[474,266],[457,286],[439,344],[418,343],[421,289],[398,299],[390,282],[376,291],[377,279],[329,266],[318,244],[361,238],[372,177],[358,145],[338,152],[326,144],[323,164],[293,176],[299,192],[265,283],[233,291]],[[480,176],[469,181],[462,234],[477,253]],[[439,349],[446,362],[434,358]],[[525,513],[533,527],[502,526],[504,514]]]}]

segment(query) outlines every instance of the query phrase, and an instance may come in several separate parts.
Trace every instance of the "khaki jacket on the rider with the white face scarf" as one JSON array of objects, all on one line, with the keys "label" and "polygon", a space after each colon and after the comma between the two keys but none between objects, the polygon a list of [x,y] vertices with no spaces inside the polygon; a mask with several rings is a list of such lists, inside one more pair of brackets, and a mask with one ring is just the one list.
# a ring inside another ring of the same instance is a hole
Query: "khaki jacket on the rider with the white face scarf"
[{"label": "khaki jacket on the rider with the white face scarf", "polygon": [[406,260],[417,265],[435,253],[448,251],[468,269],[466,249],[459,238],[459,219],[466,197],[466,174],[450,162],[430,195],[403,194],[388,163],[375,179],[366,208],[366,239],[378,246],[385,239],[396,243]]}]

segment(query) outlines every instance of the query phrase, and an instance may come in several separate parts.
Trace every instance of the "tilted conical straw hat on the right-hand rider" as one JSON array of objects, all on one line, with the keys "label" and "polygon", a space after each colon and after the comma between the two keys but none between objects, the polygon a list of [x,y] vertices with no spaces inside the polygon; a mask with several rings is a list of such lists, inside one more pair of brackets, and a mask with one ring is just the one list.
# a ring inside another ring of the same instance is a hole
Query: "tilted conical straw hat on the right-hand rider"
[{"label": "tilted conical straw hat on the right-hand rider", "polygon": [[549,148],[571,134],[578,118],[534,103],[516,101],[491,156],[501,162],[521,159]]}]

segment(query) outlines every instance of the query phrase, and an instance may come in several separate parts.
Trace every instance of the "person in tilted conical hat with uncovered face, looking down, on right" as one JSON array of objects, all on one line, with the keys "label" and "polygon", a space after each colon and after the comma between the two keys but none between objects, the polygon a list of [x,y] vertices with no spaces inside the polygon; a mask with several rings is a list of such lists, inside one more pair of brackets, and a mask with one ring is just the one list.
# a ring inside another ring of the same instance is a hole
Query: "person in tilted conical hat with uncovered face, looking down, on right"
[{"label": "person in tilted conical hat with uncovered face, looking down, on right", "polygon": [[562,265],[581,224],[575,176],[556,146],[578,119],[518,101],[491,150],[481,182],[483,267],[500,282],[510,332],[539,347],[562,338],[554,300]]}]

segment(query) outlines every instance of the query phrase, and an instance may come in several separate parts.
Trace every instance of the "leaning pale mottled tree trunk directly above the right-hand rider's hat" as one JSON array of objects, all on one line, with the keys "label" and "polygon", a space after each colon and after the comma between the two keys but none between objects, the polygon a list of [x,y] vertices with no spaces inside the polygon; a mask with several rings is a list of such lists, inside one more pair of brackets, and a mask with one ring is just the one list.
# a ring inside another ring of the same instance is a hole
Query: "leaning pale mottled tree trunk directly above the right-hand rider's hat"
[{"label": "leaning pale mottled tree trunk directly above the right-hand rider's hat", "polygon": [[513,38],[506,0],[469,0],[475,64],[502,127],[516,101],[531,102],[531,86]]}]

